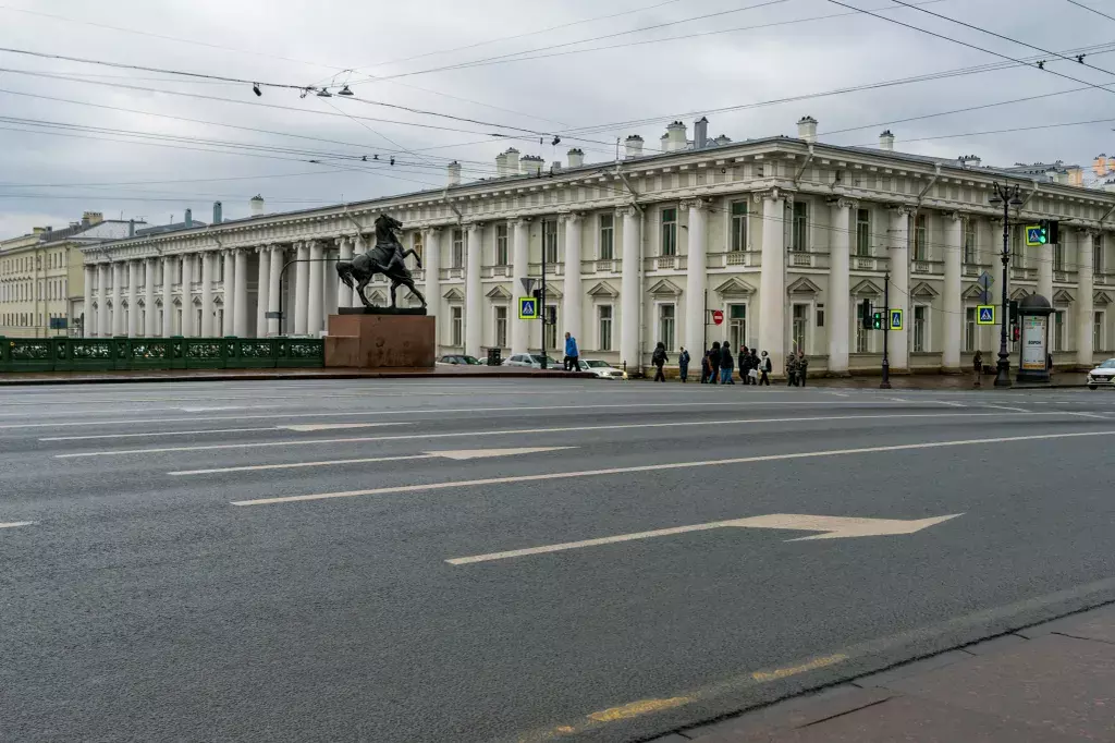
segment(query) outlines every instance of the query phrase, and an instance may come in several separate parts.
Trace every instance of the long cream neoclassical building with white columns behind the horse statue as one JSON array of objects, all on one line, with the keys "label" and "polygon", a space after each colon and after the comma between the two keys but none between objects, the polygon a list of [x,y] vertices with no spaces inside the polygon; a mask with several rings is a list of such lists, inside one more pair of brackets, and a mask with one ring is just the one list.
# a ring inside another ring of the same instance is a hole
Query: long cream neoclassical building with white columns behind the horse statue
[{"label": "long cream neoclassical building with white columns behind the horse statue", "polygon": [[[878,368],[882,334],[859,312],[864,299],[883,308],[889,272],[890,306],[905,316],[890,336],[891,368],[954,370],[999,346],[999,328],[976,322],[985,271],[1002,302],[1002,211],[989,203],[998,182],[1019,185],[1024,201],[1009,224],[1010,298],[1053,302],[1058,365],[1115,355],[1115,194],[975,157],[900,153],[890,132],[878,147],[827,145],[809,117],[797,137],[731,142],[698,120],[690,139],[675,122],[653,153],[633,135],[613,162],[571,149],[545,168],[508,149],[492,178],[462,182],[454,163],[442,190],[235,221],[216,213],[204,228],[85,248],[88,335],[321,334],[338,306],[358,303],[333,262],[363,250],[387,212],[423,255],[414,272],[440,353],[556,350],[570,331],[583,357],[629,367],[658,341],[676,360],[682,346],[697,358],[729,340],[769,351],[776,369],[795,348],[817,370]],[[1059,221],[1059,244],[1025,245],[1019,225],[1039,219]],[[545,332],[518,319],[516,301],[543,263],[558,318]],[[388,301],[382,280],[368,291]]]}]

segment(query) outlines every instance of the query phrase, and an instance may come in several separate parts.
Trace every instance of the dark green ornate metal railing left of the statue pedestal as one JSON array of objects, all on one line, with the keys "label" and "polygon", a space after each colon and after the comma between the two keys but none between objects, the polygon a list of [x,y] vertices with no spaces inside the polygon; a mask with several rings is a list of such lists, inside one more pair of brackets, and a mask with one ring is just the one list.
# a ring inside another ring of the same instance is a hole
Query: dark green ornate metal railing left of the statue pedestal
[{"label": "dark green ornate metal railing left of the statue pedestal", "polygon": [[324,366],[320,338],[4,338],[0,373]]}]

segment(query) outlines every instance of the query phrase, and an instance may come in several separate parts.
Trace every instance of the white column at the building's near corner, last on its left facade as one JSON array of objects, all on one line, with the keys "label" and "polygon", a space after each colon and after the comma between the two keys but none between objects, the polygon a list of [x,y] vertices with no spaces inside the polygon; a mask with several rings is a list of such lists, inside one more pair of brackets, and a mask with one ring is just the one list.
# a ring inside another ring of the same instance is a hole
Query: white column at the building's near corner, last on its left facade
[{"label": "white column at the building's near corner, last on its left facade", "polygon": [[759,276],[759,355],[770,357],[772,374],[786,370],[786,201],[777,190],[763,199],[763,252]]}]

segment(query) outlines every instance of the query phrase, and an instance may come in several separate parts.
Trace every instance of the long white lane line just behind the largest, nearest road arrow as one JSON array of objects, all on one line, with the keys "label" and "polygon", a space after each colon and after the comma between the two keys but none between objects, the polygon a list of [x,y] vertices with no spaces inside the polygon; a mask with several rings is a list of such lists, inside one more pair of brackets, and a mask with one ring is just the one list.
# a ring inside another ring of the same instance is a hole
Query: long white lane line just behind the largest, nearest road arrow
[{"label": "long white lane line just behind the largest, nearest road arrow", "polygon": [[563,480],[565,477],[591,477],[599,475],[628,474],[631,472],[658,472],[663,470],[687,470],[692,467],[721,466],[726,464],[748,464],[754,462],[776,462],[782,460],[805,460],[821,456],[844,456],[850,454],[870,454],[873,452],[902,452],[919,448],[940,448],[946,446],[975,446],[980,444],[1002,444],[1020,441],[1045,441],[1050,438],[1072,438],[1078,436],[1111,436],[1115,431],[1082,431],[1064,434],[1040,434],[1032,436],[1002,436],[998,438],[964,438],[957,441],[934,441],[920,444],[893,444],[890,446],[865,446],[863,448],[834,448],[820,452],[796,452],[793,454],[767,454],[764,456],[741,456],[730,460],[708,460],[704,462],[673,462],[669,464],[643,464],[630,467],[609,467],[607,470],[584,470],[581,472],[549,472],[514,477],[487,477],[484,480],[462,480],[456,482],[435,482],[423,485],[396,485],[394,488],[377,488],[374,490],[350,490],[338,493],[316,493],[312,495],[289,495],[284,498],[261,498],[250,501],[232,501],[233,505],[268,505],[272,503],[295,503],[299,501],[321,501],[333,498],[356,498],[358,495],[384,495],[387,493],[414,493],[426,490],[445,490],[449,488],[473,488],[476,485],[501,485],[506,483],[537,482],[543,480]]}]

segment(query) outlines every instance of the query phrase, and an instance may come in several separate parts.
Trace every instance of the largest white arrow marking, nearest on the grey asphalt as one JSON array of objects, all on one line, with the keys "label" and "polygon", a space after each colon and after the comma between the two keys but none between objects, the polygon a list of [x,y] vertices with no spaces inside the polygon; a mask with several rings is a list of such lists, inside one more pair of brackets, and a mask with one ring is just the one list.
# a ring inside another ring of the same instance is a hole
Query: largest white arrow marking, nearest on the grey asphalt
[{"label": "largest white arrow marking, nearest on the grey asphalt", "polygon": [[653,537],[668,537],[670,534],[683,534],[690,531],[708,531],[710,529],[724,529],[726,527],[741,527],[745,529],[792,529],[795,531],[822,531],[823,534],[813,537],[802,537],[788,541],[799,542],[808,539],[845,539],[853,537],[883,537],[888,534],[912,534],[933,524],[956,519],[960,513],[944,517],[933,517],[931,519],[915,519],[903,521],[898,519],[850,519],[845,517],[823,517],[806,515],[803,513],[772,513],[769,515],[753,517],[749,519],[731,519],[729,521],[712,521],[711,523],[696,523],[688,527],[673,527],[671,529],[656,529],[655,531],[639,531],[633,534],[618,534],[615,537],[603,537],[601,539],[585,539],[579,542],[562,542],[561,544],[544,544],[542,547],[529,547],[522,550],[508,550],[506,552],[491,552],[488,554],[475,554],[466,558],[453,558],[446,560],[449,565],[471,565],[473,562],[489,562],[492,560],[506,560],[514,557],[527,554],[544,554],[545,552],[563,552],[565,550],[576,550],[582,547],[598,547],[600,544],[614,544],[617,542],[630,542],[637,539],[651,539]]}]

